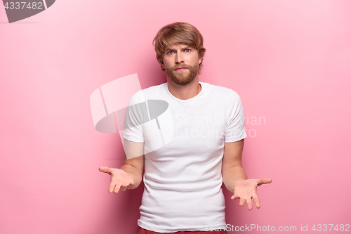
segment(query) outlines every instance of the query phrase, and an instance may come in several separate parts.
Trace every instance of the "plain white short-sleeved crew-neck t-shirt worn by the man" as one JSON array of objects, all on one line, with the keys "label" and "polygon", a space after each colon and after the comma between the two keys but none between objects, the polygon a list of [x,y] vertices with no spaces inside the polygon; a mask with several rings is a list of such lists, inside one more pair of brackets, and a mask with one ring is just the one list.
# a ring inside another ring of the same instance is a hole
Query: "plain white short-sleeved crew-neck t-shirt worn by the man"
[{"label": "plain white short-sleeved crew-neck t-shirt worn by the man", "polygon": [[[208,230],[225,226],[222,191],[224,143],[246,137],[239,95],[205,82],[194,98],[180,100],[167,83],[138,91],[130,104],[164,100],[173,120],[171,141],[145,154],[145,189],[138,226],[159,233]],[[159,118],[161,119],[161,118]],[[172,124],[156,119],[124,130],[128,141],[152,141],[148,136]],[[152,125],[153,124],[153,125]]]}]

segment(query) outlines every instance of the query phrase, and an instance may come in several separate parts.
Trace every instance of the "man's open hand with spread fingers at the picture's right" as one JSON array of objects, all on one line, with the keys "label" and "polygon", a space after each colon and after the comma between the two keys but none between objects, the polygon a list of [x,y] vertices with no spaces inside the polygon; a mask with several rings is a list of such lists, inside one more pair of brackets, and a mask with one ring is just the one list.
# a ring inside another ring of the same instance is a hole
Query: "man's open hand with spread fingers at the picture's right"
[{"label": "man's open hand with spread fingers at the picture's right", "polygon": [[261,179],[246,179],[241,183],[238,183],[237,186],[234,186],[234,195],[230,197],[232,200],[240,199],[239,206],[242,207],[247,202],[247,208],[252,209],[252,202],[255,202],[256,207],[260,208],[260,200],[257,196],[257,187],[265,183],[271,183],[272,179],[270,178],[261,178]]}]

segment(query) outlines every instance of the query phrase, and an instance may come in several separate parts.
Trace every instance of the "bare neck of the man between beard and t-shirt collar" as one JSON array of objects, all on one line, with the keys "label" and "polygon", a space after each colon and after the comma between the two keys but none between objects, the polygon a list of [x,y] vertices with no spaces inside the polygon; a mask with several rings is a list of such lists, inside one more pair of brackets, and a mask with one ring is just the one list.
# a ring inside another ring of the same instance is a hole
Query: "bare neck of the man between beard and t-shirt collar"
[{"label": "bare neck of the man between beard and t-shirt collar", "polygon": [[175,84],[167,77],[167,86],[170,93],[180,100],[187,100],[194,98],[201,91],[201,85],[199,84],[199,77],[186,85]]}]

